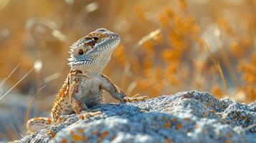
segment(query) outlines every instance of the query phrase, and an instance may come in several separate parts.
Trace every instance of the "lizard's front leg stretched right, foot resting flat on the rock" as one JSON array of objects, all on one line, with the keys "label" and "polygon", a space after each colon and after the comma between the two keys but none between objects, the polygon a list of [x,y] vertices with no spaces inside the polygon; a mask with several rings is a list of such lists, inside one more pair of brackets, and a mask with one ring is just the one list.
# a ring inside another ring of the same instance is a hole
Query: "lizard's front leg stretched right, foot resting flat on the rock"
[{"label": "lizard's front leg stretched right, foot resting flat on the rock", "polygon": [[112,97],[120,100],[120,102],[141,102],[148,99],[148,96],[139,97],[138,94],[133,97],[127,97],[125,92],[113,84],[113,82],[107,76],[105,76],[105,74],[100,74],[100,79],[100,88],[108,91]]}]

